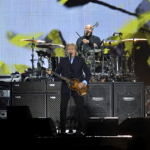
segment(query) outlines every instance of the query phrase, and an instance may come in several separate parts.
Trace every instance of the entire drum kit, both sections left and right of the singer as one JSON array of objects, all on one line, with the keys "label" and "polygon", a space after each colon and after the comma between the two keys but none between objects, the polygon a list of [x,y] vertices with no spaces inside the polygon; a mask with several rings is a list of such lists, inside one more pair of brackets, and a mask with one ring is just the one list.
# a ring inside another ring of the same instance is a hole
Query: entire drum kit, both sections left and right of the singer
[{"label": "entire drum kit, both sections left and right of the singer", "polygon": [[[141,38],[131,38],[121,40],[122,42],[133,41],[133,49],[132,55],[127,56],[127,51],[121,50],[120,55],[113,55],[111,53],[113,51],[117,51],[114,47],[111,46],[111,43],[118,42],[114,40],[103,41],[103,45],[101,49],[96,49],[95,47],[91,50],[88,50],[86,53],[80,52],[81,57],[85,59],[86,64],[90,68],[92,73],[92,78],[90,82],[104,82],[104,81],[133,81],[136,82],[137,77],[134,71],[135,65],[135,43],[134,41],[146,41],[147,39]],[[32,71],[30,71],[30,75],[27,76],[24,81],[27,79],[39,79],[39,78],[48,78],[46,74],[46,68],[43,67],[44,59],[46,58],[48,61],[48,68],[54,71],[53,63],[52,63],[52,54],[54,53],[55,48],[64,48],[64,45],[45,43],[45,41],[34,40],[32,39],[22,39],[21,41],[31,42],[32,48]],[[38,59],[34,59],[34,47],[35,43],[37,48],[41,48],[41,50],[36,50],[38,55]],[[42,43],[42,44],[41,44]],[[104,46],[105,43],[109,43],[109,46]],[[107,53],[105,50],[107,48]],[[46,50],[43,50],[46,49]],[[37,61],[37,68],[34,67],[34,61]],[[45,74],[44,74],[45,72]],[[49,80],[53,80],[53,78],[49,77]]]}]

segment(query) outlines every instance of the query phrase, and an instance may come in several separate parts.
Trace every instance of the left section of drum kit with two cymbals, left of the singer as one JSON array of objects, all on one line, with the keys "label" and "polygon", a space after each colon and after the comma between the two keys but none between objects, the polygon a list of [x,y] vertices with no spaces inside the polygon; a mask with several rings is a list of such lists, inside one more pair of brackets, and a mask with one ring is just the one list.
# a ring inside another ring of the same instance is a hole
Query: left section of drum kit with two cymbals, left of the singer
[{"label": "left section of drum kit with two cymbals, left of the singer", "polygon": [[[51,69],[54,70],[53,66],[53,58],[54,55],[54,49],[55,48],[64,48],[64,45],[59,45],[59,44],[52,44],[52,43],[45,43],[45,41],[41,40],[34,40],[32,39],[22,39],[21,41],[27,41],[31,42],[31,48],[32,48],[32,54],[31,54],[31,63],[32,63],[32,68],[29,70],[29,74],[24,78],[24,81],[27,80],[39,80],[39,79],[49,79],[53,80],[52,77],[47,76],[46,74],[46,69]],[[41,50],[36,50],[35,52],[38,55],[38,59],[34,59],[34,47],[41,48]],[[44,67],[44,59],[47,59],[48,61],[48,68]],[[34,66],[34,61],[37,61],[37,68]],[[59,61],[57,59],[57,61]],[[58,63],[58,62],[57,62]],[[26,73],[28,70],[26,70]]]}]

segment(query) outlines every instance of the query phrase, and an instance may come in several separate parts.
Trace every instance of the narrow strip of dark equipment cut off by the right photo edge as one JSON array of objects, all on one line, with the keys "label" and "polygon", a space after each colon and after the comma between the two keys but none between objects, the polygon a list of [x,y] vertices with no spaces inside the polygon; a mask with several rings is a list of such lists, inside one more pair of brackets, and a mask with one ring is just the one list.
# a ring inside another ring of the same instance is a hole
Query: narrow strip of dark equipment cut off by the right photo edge
[{"label": "narrow strip of dark equipment cut off by the right photo edge", "polygon": [[145,117],[150,117],[150,86],[145,87]]}]

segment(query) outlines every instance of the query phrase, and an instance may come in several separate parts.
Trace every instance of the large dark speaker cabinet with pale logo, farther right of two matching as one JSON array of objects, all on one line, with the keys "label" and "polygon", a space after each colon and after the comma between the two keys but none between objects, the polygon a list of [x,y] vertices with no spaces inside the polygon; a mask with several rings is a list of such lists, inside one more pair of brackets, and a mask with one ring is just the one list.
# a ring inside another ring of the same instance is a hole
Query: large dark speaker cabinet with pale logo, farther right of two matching
[{"label": "large dark speaker cabinet with pale logo, farther right of two matching", "polygon": [[114,117],[119,124],[128,117],[144,116],[144,83],[114,83]]}]

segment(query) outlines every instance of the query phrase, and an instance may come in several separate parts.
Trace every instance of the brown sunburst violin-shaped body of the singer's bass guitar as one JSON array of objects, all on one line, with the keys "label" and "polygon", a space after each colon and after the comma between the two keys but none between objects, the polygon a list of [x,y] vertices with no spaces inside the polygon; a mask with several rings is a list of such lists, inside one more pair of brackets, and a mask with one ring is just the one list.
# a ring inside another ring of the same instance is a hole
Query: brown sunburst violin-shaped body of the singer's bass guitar
[{"label": "brown sunburst violin-shaped body of the singer's bass guitar", "polygon": [[69,88],[71,88],[74,91],[77,91],[80,96],[85,96],[89,90],[89,85],[86,85],[82,89],[80,89],[78,87],[79,83],[80,82],[78,81],[78,79],[74,78],[71,80],[71,84],[69,84],[70,85]]}]

